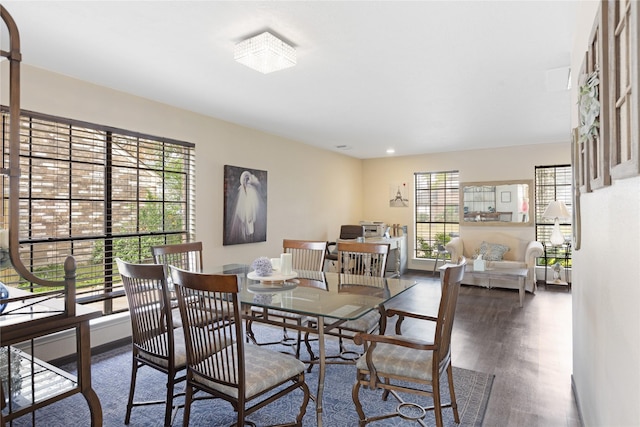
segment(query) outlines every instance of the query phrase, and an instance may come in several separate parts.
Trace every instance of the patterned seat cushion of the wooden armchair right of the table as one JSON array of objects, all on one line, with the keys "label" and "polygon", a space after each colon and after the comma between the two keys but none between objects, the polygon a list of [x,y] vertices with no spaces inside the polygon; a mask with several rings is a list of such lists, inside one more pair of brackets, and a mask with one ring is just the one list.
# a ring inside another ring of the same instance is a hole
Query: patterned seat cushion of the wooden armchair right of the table
[{"label": "patterned seat cushion of the wooden armchair right of the table", "polygon": [[[382,376],[386,374],[431,381],[432,359],[432,351],[386,343],[378,343],[373,350],[373,364]],[[356,367],[362,370],[369,369],[366,355],[358,359]]]}]

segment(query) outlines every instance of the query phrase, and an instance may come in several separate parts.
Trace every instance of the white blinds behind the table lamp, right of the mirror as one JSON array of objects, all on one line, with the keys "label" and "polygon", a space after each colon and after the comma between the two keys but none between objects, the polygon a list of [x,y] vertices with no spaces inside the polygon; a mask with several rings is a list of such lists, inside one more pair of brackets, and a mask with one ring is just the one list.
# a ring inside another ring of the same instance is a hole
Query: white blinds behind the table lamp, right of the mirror
[{"label": "white blinds behind the table lamp, right of the mirror", "polygon": [[[554,200],[560,200],[567,206],[567,210],[571,215],[573,211],[572,170],[570,165],[537,166],[535,175],[536,240],[549,242],[554,220],[544,218],[543,214],[549,203]],[[565,237],[571,237],[571,217],[560,219],[560,231]]]}]

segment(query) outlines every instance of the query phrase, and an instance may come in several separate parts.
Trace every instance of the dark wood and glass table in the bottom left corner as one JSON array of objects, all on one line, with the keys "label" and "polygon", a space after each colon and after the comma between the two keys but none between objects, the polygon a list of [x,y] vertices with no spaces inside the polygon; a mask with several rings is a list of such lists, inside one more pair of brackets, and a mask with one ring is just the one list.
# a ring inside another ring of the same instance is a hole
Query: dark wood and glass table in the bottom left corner
[{"label": "dark wood and glass table in the bottom left corner", "polygon": [[[89,341],[89,320],[100,317],[100,312],[76,305],[75,315],[69,316],[64,311],[63,301],[34,297],[34,294],[14,288],[9,288],[7,301],[7,308],[0,315],[0,347],[6,347],[11,357],[19,358],[22,382],[18,390],[5,390],[5,398],[9,398],[9,402],[2,410],[3,422],[8,423],[38,408],[82,393],[89,404],[91,425],[101,427],[102,407],[98,395],[91,388]],[[9,346],[68,329],[76,332],[77,377],[15,348],[9,350]]]}]

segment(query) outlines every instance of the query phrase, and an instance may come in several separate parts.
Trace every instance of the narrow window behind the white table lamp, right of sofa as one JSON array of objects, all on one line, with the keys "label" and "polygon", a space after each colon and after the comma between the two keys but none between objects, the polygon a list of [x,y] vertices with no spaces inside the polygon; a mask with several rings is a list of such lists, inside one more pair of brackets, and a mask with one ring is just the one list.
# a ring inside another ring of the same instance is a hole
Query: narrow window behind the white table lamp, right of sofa
[{"label": "narrow window behind the white table lamp, right of sofa", "polygon": [[[536,174],[536,240],[545,245],[547,257],[546,260],[541,258],[538,262],[548,265],[559,262],[564,267],[571,266],[571,212],[573,210],[572,202],[572,170],[570,165],[558,166],[537,166]],[[543,216],[545,209],[549,203],[554,200],[562,201],[569,211],[568,218],[560,218],[560,231],[564,235],[565,244],[561,246],[553,246],[550,243],[551,231],[554,226],[553,218],[545,218]]]}]

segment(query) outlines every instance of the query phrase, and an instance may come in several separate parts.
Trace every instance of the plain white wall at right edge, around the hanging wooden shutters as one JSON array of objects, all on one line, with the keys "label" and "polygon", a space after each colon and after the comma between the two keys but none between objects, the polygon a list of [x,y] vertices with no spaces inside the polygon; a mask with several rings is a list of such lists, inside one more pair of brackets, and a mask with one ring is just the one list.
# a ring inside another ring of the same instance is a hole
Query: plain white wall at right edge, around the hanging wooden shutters
[{"label": "plain white wall at right edge, around the hanging wooden shutters", "polygon": [[[583,1],[580,6],[572,70],[581,67],[598,2]],[[577,73],[573,76],[577,100]],[[572,106],[575,127],[576,103]],[[587,427],[638,426],[640,177],[614,180],[609,187],[582,195],[581,207],[582,248],[573,256],[572,287],[578,403]]]}]

